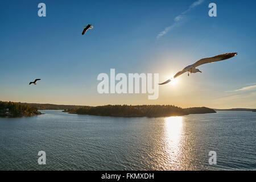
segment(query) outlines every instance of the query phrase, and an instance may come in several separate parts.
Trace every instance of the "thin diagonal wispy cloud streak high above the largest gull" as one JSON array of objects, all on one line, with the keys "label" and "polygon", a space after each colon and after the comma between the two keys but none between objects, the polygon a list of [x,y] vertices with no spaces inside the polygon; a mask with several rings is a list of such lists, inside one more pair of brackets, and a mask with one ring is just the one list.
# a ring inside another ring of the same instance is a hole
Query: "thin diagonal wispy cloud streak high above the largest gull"
[{"label": "thin diagonal wispy cloud streak high above the largest gull", "polygon": [[185,14],[187,14],[189,11],[191,11],[194,7],[200,5],[201,3],[203,3],[204,0],[197,0],[195,2],[192,3],[192,5],[190,5],[188,7],[187,10],[183,11],[183,13],[181,13],[180,15],[177,15],[175,18],[174,18],[174,23],[171,24],[171,26],[168,26],[166,28],[164,28],[164,30],[162,32],[160,32],[156,38],[159,39],[161,38],[163,35],[167,34],[167,32],[171,31],[172,29],[174,29],[175,27],[178,27],[180,26],[180,24],[183,22],[184,20],[184,16]]}]

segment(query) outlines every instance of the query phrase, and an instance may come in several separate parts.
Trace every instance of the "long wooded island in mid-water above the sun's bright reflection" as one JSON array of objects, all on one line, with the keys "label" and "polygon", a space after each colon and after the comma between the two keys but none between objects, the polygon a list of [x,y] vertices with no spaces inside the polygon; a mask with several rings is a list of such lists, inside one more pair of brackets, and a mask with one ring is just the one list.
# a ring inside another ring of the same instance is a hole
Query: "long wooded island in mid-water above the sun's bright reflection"
[{"label": "long wooded island in mid-water above the sun's bright reflection", "polygon": [[182,109],[174,105],[104,105],[84,106],[79,109],[66,109],[71,114],[87,114],[111,117],[170,117],[188,114],[216,113],[208,107]]}]

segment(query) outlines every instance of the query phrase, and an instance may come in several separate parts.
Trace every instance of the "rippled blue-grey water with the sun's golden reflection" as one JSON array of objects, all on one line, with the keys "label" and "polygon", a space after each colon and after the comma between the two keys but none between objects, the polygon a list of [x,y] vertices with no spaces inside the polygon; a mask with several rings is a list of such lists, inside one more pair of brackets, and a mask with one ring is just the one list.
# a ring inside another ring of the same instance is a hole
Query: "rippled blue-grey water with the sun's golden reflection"
[{"label": "rippled blue-grey water with the sun's golden reflection", "polygon": [[[256,113],[0,118],[1,170],[256,170]],[[46,165],[38,152],[46,151]],[[209,151],[217,164],[209,165]]]}]

